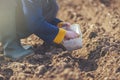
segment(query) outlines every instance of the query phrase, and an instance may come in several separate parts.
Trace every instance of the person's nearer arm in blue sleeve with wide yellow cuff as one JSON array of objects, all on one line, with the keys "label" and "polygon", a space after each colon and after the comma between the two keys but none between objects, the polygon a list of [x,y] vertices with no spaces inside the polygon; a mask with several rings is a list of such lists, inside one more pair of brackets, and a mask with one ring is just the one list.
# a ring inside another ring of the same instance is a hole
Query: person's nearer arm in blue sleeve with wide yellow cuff
[{"label": "person's nearer arm in blue sleeve with wide yellow cuff", "polygon": [[22,0],[28,29],[47,43],[61,43],[66,31],[45,21],[42,11],[32,0]]}]

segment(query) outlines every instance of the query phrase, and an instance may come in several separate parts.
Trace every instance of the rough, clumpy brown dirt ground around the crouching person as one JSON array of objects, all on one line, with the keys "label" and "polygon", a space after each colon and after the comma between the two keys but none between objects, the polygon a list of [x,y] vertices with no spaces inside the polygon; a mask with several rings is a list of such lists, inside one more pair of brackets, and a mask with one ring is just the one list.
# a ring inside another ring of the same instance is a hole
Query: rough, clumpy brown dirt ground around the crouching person
[{"label": "rough, clumpy brown dirt ground around the crouching person", "polygon": [[0,80],[120,80],[120,0],[58,1],[58,17],[81,25],[83,47],[67,52],[32,35],[22,43],[34,45],[33,57],[0,55]]}]

